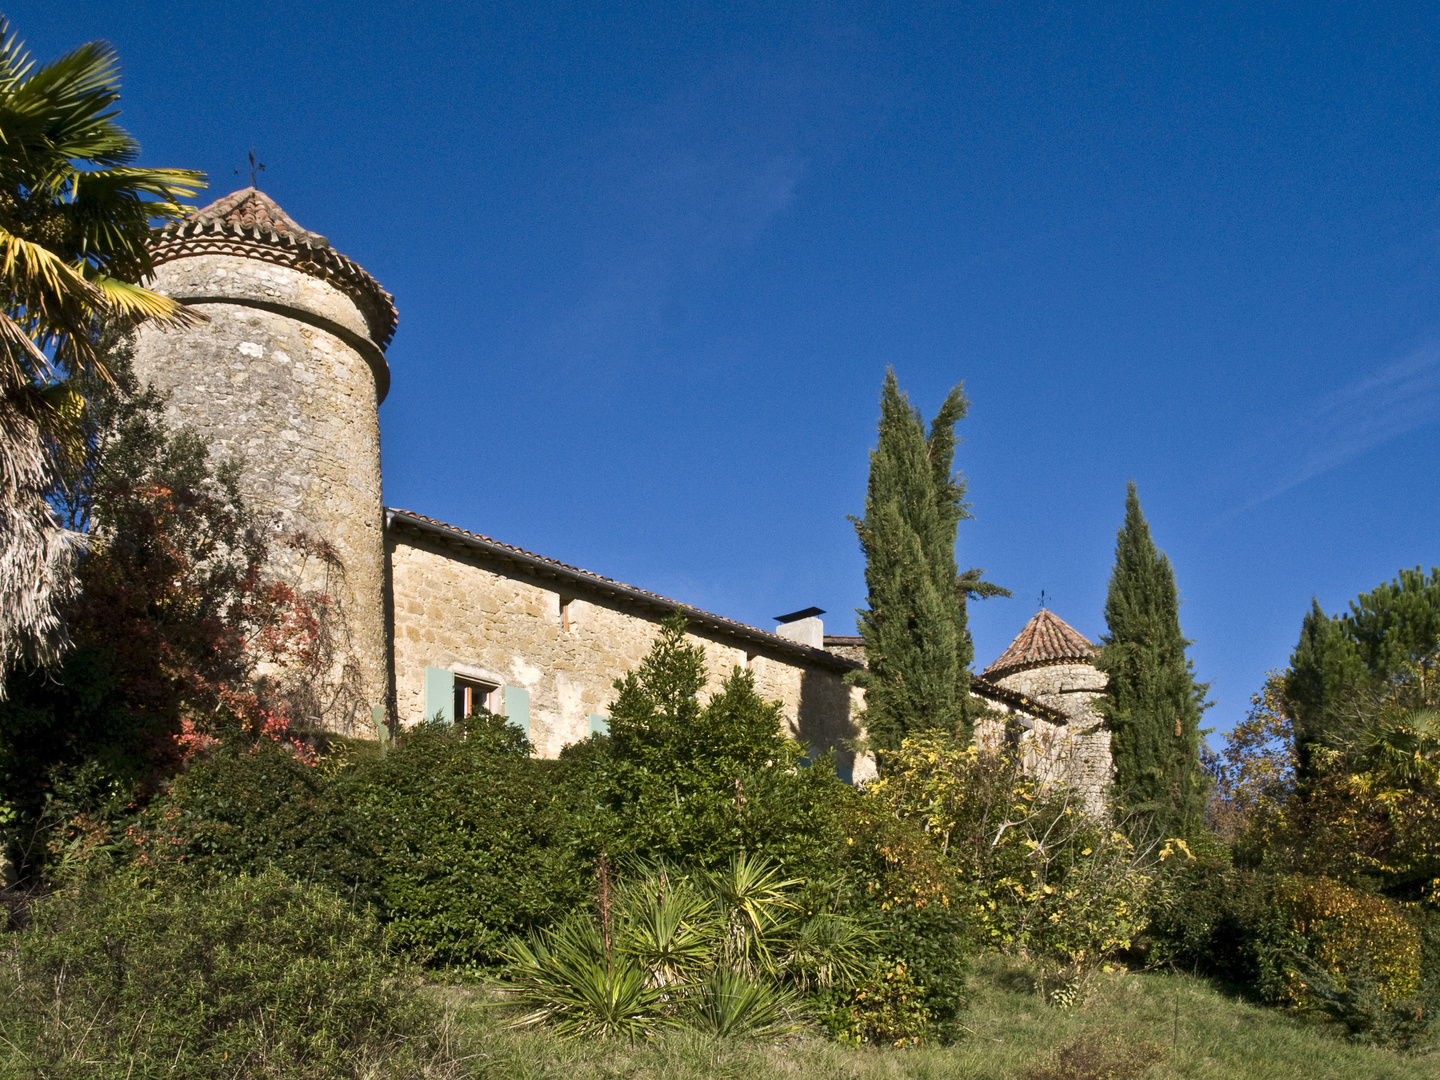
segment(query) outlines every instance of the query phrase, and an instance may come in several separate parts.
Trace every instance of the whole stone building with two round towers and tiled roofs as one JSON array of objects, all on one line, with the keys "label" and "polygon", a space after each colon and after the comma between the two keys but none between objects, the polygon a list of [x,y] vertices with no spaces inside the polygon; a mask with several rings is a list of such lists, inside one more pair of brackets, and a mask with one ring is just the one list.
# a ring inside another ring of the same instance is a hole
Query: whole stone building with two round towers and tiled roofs
[{"label": "whole stone building with two round towers and tiled roofs", "polygon": [[[613,680],[683,613],[701,645],[707,688],[740,667],[780,703],[791,732],[832,749],[842,775],[874,772],[845,743],[861,732],[860,638],[827,636],[824,612],[747,626],[556,559],[383,505],[379,408],[395,302],[356,262],[253,187],[160,232],[153,288],[203,312],[187,330],[143,330],[135,373],[168,395],[179,423],[239,455],[242,490],[278,537],[324,540],[333,557],[275,546],[275,570],[324,590],[343,635],[333,672],[344,693],[320,717],[383,734],[488,707],[553,756],[605,730]],[[314,550],[314,546],[304,550]],[[1094,648],[1040,612],[973,693],[1024,727],[1045,775],[1076,773],[1087,799],[1109,776],[1109,740],[1092,708],[1104,677]],[[1004,736],[992,723],[982,737]]]}]

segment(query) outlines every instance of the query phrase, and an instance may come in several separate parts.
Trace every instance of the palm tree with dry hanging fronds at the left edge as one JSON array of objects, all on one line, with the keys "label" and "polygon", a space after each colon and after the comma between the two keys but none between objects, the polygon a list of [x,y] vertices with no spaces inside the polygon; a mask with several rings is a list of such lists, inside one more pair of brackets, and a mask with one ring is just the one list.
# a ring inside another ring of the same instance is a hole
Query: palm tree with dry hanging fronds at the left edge
[{"label": "palm tree with dry hanging fronds at the left edge", "polygon": [[91,42],[36,65],[0,16],[0,694],[20,660],[63,644],[73,537],[50,508],[84,402],[72,376],[111,379],[109,324],[199,317],[138,282],[154,219],[176,219],[204,174],[135,168],[115,122],[114,49]]}]

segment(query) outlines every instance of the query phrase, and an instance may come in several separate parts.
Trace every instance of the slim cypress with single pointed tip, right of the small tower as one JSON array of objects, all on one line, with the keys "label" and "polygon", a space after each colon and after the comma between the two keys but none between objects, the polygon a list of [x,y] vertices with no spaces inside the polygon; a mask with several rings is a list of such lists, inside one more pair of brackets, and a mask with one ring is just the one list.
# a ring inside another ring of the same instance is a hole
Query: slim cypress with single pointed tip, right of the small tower
[{"label": "slim cypress with single pointed tip, right of the small tower", "polygon": [[1135,484],[1125,498],[1104,621],[1110,632],[1097,665],[1110,675],[1103,710],[1120,801],[1164,835],[1191,834],[1205,809],[1200,714],[1210,687],[1195,681],[1185,657],[1175,572],[1151,539]]}]

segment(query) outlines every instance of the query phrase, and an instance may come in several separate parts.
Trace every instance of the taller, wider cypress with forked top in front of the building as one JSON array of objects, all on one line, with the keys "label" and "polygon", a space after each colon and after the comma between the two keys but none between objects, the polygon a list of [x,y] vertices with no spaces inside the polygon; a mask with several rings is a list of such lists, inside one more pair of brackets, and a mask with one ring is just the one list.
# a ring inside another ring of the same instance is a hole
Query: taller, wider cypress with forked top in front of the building
[{"label": "taller, wider cypress with forked top in front of the building", "polygon": [[[953,474],[955,425],[968,408],[956,386],[930,423],[886,372],[880,432],[870,455],[864,518],[851,518],[865,553],[868,608],[860,609],[867,671],[865,730],[878,749],[910,732],[969,734],[966,586],[955,536],[968,517],[965,481]],[[973,583],[971,583],[973,586]]]}]

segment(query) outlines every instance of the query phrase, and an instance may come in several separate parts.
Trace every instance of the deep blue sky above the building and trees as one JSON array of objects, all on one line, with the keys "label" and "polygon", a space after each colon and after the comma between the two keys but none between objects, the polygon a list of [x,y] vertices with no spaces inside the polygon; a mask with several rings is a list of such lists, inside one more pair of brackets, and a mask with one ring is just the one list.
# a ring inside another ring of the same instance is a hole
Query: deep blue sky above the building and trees
[{"label": "deep blue sky above the building and trees", "polygon": [[963,380],[981,664],[1041,589],[1103,634],[1135,480],[1220,729],[1312,595],[1440,562],[1433,6],[7,13],[395,292],[392,505],[854,632],[884,369]]}]

